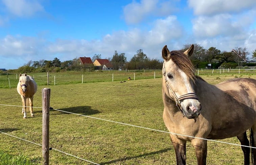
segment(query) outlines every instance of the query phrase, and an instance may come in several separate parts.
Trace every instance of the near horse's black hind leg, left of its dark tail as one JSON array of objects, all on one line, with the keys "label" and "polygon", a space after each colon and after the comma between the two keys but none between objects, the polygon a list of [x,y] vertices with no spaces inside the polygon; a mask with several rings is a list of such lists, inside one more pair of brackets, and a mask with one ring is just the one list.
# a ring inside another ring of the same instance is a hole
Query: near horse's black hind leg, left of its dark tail
[{"label": "near horse's black hind leg, left of its dark tail", "polygon": [[[246,146],[250,145],[246,132],[238,135],[237,138],[240,141],[241,145],[246,145]],[[242,146],[241,148],[244,156],[244,164],[250,165],[250,148],[245,146]]]}]

